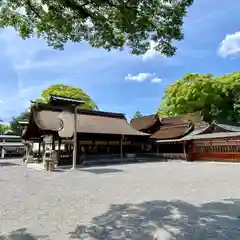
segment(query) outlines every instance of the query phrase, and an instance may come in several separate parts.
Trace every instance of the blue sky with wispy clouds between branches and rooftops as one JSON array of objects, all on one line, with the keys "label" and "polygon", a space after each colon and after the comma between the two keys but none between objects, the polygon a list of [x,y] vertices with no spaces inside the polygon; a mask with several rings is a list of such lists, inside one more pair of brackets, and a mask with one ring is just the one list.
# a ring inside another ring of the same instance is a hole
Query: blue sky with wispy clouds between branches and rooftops
[{"label": "blue sky with wispy clouds between branches and rooftops", "polygon": [[21,40],[12,29],[0,32],[0,117],[9,121],[63,83],[82,88],[100,110],[152,114],[164,89],[188,72],[220,75],[240,70],[240,1],[196,0],[184,21],[185,38],[176,56],[150,49],[144,56],[68,44],[55,51],[38,39]]}]

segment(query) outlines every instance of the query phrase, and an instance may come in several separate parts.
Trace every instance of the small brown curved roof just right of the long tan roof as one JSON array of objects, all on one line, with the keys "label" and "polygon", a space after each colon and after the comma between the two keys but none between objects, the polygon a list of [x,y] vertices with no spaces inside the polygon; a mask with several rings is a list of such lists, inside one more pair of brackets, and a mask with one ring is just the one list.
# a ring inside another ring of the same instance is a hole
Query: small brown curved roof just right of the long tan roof
[{"label": "small brown curved roof just right of the long tan roof", "polygon": [[157,114],[152,114],[132,119],[130,124],[134,129],[141,131],[152,127],[157,121],[159,121]]}]

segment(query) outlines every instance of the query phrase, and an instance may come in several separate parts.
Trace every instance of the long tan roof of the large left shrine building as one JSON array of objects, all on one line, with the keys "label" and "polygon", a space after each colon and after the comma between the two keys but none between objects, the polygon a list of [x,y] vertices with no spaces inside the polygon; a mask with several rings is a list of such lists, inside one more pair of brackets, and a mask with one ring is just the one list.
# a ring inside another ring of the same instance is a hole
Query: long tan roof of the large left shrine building
[{"label": "long tan roof of the large left shrine building", "polygon": [[[31,128],[35,133],[41,131],[58,131],[61,129],[59,119],[62,110],[57,108],[33,108],[29,125],[23,138],[31,137]],[[71,113],[70,113],[71,115]],[[66,124],[73,124],[67,122]],[[67,126],[66,126],[67,127]],[[92,134],[111,134],[111,135],[132,135],[149,136],[132,128],[123,114],[97,112],[90,110],[78,110],[77,132]],[[37,135],[37,134],[36,134]]]}]

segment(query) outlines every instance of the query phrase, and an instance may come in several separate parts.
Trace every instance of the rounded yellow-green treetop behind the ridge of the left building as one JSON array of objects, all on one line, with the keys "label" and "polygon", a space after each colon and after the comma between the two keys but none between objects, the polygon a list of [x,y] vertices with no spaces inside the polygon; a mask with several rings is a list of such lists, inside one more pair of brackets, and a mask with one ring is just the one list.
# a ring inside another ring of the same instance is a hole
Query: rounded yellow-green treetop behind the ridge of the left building
[{"label": "rounded yellow-green treetop behind the ridge of the left building", "polygon": [[84,104],[80,105],[81,108],[98,110],[98,107],[94,101],[85,92],[83,92],[82,89],[63,84],[52,85],[49,88],[43,90],[41,98],[37,98],[35,101],[38,103],[47,103],[50,99],[50,95],[79,98],[84,101]]}]

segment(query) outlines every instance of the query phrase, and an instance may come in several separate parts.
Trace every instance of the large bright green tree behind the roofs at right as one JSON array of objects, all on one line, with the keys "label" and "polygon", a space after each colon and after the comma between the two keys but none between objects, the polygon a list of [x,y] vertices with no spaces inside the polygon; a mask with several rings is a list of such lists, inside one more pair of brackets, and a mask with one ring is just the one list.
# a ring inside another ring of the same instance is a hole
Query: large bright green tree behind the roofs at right
[{"label": "large bright green tree behind the roofs at right", "polygon": [[186,74],[165,90],[158,113],[181,115],[201,111],[206,121],[240,123],[240,72],[214,77]]}]

